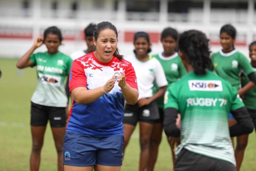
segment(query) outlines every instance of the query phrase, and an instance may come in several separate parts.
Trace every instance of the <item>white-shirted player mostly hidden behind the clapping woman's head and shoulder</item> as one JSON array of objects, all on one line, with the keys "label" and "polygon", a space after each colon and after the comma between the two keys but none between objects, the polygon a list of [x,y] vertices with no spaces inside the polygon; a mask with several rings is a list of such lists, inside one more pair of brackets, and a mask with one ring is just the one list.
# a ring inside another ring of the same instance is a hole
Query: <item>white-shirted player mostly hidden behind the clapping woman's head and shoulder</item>
[{"label": "white-shirted player mostly hidden behind the clapping woman's head and shoulder", "polygon": [[94,43],[93,43],[93,31],[96,27],[96,24],[90,23],[85,29],[84,29],[84,36],[85,36],[85,43],[87,45],[86,50],[80,50],[77,52],[73,52],[70,57],[75,60],[77,58],[80,58],[81,56],[86,55],[87,53],[94,51]]}]

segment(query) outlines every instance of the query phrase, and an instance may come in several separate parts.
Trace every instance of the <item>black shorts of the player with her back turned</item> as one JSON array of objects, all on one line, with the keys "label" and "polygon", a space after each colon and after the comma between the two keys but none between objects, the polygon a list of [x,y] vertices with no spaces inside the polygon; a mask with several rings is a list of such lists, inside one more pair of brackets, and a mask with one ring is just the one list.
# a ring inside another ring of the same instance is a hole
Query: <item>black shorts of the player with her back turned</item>
[{"label": "black shorts of the player with her back turned", "polygon": [[195,154],[183,148],[177,156],[175,171],[236,171],[235,165],[220,159]]}]

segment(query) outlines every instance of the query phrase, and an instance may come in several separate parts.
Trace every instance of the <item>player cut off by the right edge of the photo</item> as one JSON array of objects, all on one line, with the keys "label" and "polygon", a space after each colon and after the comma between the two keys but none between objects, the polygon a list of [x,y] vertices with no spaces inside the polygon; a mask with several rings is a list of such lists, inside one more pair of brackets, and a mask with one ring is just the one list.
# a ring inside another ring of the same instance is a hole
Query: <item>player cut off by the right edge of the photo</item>
[{"label": "player cut off by the right edge of the photo", "polygon": [[[253,72],[256,74],[256,41],[250,43],[249,46],[249,57],[251,59],[251,66],[253,67]],[[241,85],[242,87],[245,86],[250,79],[244,73],[241,74]],[[256,87],[245,93],[244,95],[244,104],[250,113],[251,118],[253,119],[254,127],[256,128]]]}]

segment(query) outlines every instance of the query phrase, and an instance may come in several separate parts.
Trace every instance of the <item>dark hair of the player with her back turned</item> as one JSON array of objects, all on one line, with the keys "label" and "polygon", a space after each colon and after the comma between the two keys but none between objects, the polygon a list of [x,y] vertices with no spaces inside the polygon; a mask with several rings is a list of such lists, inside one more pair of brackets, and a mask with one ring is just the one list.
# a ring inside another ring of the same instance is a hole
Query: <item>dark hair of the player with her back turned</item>
[{"label": "dark hair of the player with her back turned", "polygon": [[195,74],[203,75],[211,67],[208,42],[206,35],[198,30],[188,30],[180,35],[179,50],[192,65]]}]

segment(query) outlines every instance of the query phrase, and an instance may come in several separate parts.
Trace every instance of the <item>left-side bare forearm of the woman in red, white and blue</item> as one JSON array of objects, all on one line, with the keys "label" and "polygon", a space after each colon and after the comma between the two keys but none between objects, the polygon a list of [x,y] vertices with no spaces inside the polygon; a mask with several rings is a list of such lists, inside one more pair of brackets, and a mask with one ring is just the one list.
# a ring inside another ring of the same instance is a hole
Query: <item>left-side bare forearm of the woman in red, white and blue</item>
[{"label": "left-side bare forearm of the woman in red, white and blue", "polygon": [[81,88],[79,90],[75,90],[75,92],[73,92],[72,90],[71,93],[77,104],[91,103],[104,95],[102,87],[98,87],[92,90],[86,90],[85,88]]}]

